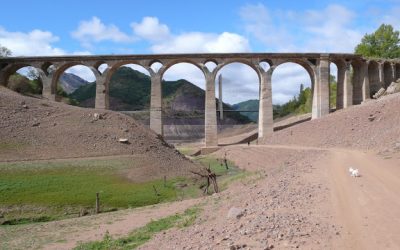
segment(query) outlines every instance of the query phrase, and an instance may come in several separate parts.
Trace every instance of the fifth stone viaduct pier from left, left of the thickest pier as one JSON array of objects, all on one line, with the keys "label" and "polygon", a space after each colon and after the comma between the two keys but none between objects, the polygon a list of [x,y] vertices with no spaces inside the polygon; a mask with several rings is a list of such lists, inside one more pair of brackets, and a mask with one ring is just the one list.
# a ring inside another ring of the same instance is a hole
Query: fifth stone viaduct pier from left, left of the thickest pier
[{"label": "fifth stone viaduct pier from left, left of the thickest pier", "polygon": [[272,109],[272,73],[274,68],[260,75],[260,103],[258,110],[258,138],[271,135],[274,131]]}]

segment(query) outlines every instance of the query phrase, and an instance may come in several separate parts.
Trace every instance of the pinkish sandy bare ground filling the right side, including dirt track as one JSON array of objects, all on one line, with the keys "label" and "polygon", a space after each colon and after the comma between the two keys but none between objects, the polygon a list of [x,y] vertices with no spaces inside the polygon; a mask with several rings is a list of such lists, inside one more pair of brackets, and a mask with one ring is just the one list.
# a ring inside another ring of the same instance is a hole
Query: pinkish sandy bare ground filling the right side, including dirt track
[{"label": "pinkish sandy bare ground filling the right side, including dirt track", "polygon": [[[214,155],[226,155],[253,175],[200,199],[204,210],[193,226],[158,234],[141,248],[399,249],[398,107],[395,94],[276,132],[268,145],[224,147]],[[351,177],[349,167],[358,168],[361,177]],[[179,209],[183,206],[172,203],[145,217]],[[137,210],[127,214],[131,219],[121,223],[112,213],[104,215],[110,216],[112,234],[141,221]],[[60,229],[64,238],[58,239],[101,239],[104,220],[85,228],[85,219],[71,222],[77,232]],[[31,226],[43,235],[56,233],[54,227],[41,229],[49,224]]]}]

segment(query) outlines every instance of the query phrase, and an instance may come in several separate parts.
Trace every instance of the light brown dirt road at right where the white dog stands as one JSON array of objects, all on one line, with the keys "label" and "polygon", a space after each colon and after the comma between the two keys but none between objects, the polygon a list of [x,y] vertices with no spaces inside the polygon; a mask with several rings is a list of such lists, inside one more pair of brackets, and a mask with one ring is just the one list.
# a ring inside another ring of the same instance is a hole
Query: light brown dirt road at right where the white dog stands
[{"label": "light brown dirt road at right where the white dog stands", "polygon": [[[332,150],[326,164],[334,216],[343,225],[342,249],[400,248],[400,165],[397,159]],[[361,177],[350,177],[348,168]]]}]

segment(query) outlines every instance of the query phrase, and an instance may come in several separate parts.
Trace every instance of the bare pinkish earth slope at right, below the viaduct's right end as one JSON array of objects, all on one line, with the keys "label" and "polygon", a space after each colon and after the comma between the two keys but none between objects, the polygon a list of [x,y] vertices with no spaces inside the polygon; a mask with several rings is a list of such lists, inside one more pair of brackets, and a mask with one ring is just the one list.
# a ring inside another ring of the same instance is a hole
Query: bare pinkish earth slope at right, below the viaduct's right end
[{"label": "bare pinkish earth slope at right, below the viaduct's right end", "polygon": [[400,93],[370,100],[275,132],[265,143],[392,152],[396,143],[400,143],[399,107]]}]

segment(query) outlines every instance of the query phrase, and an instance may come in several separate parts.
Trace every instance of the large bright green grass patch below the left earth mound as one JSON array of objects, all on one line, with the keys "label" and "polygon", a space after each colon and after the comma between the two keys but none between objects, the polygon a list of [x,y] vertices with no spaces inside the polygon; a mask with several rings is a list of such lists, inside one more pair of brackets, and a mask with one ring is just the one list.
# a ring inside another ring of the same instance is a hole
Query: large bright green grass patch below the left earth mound
[{"label": "large bright green grass patch below the left earth mound", "polygon": [[198,188],[187,184],[185,178],[132,182],[121,174],[132,167],[131,161],[122,158],[1,163],[0,213],[3,210],[5,219],[0,224],[36,222],[43,216],[57,219],[66,213],[77,216],[82,209],[93,211],[97,192],[101,211],[146,206],[182,199],[186,193],[196,194]]}]

